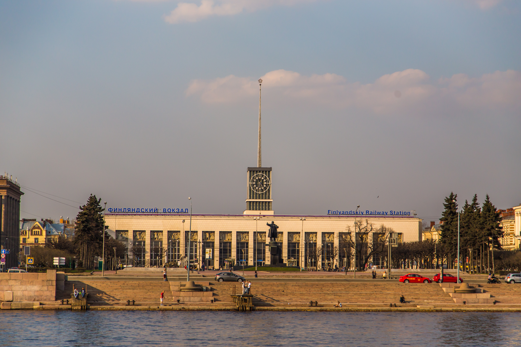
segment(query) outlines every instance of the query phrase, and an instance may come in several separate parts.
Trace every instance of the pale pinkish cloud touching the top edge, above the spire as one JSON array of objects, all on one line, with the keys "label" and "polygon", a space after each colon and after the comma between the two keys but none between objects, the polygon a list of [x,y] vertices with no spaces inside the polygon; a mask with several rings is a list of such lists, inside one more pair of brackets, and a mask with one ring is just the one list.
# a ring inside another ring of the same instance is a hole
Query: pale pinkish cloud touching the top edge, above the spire
[{"label": "pale pinkish cloud touching the top edge, above the spire", "polygon": [[311,3],[318,0],[201,0],[196,3],[178,3],[177,7],[164,19],[168,23],[197,22],[211,16],[233,16],[243,11],[253,12],[262,8],[299,3]]}]

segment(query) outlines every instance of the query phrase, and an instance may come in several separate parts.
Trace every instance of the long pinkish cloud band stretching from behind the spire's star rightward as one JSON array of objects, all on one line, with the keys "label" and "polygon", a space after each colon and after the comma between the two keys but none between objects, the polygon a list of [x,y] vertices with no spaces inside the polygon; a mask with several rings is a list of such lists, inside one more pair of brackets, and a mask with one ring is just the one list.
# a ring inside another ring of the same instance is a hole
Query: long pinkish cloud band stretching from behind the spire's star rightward
[{"label": "long pinkish cloud band stretching from behind the spire's star rightward", "polygon": [[[326,73],[303,76],[275,70],[261,77],[263,90],[285,102],[358,108],[378,114],[428,112],[440,107],[521,110],[521,72],[496,71],[479,78],[455,74],[432,81],[424,71],[407,69],[378,78],[374,83],[349,82]],[[206,104],[233,104],[258,95],[255,79],[229,75],[214,80],[193,80],[187,96]]]}]

